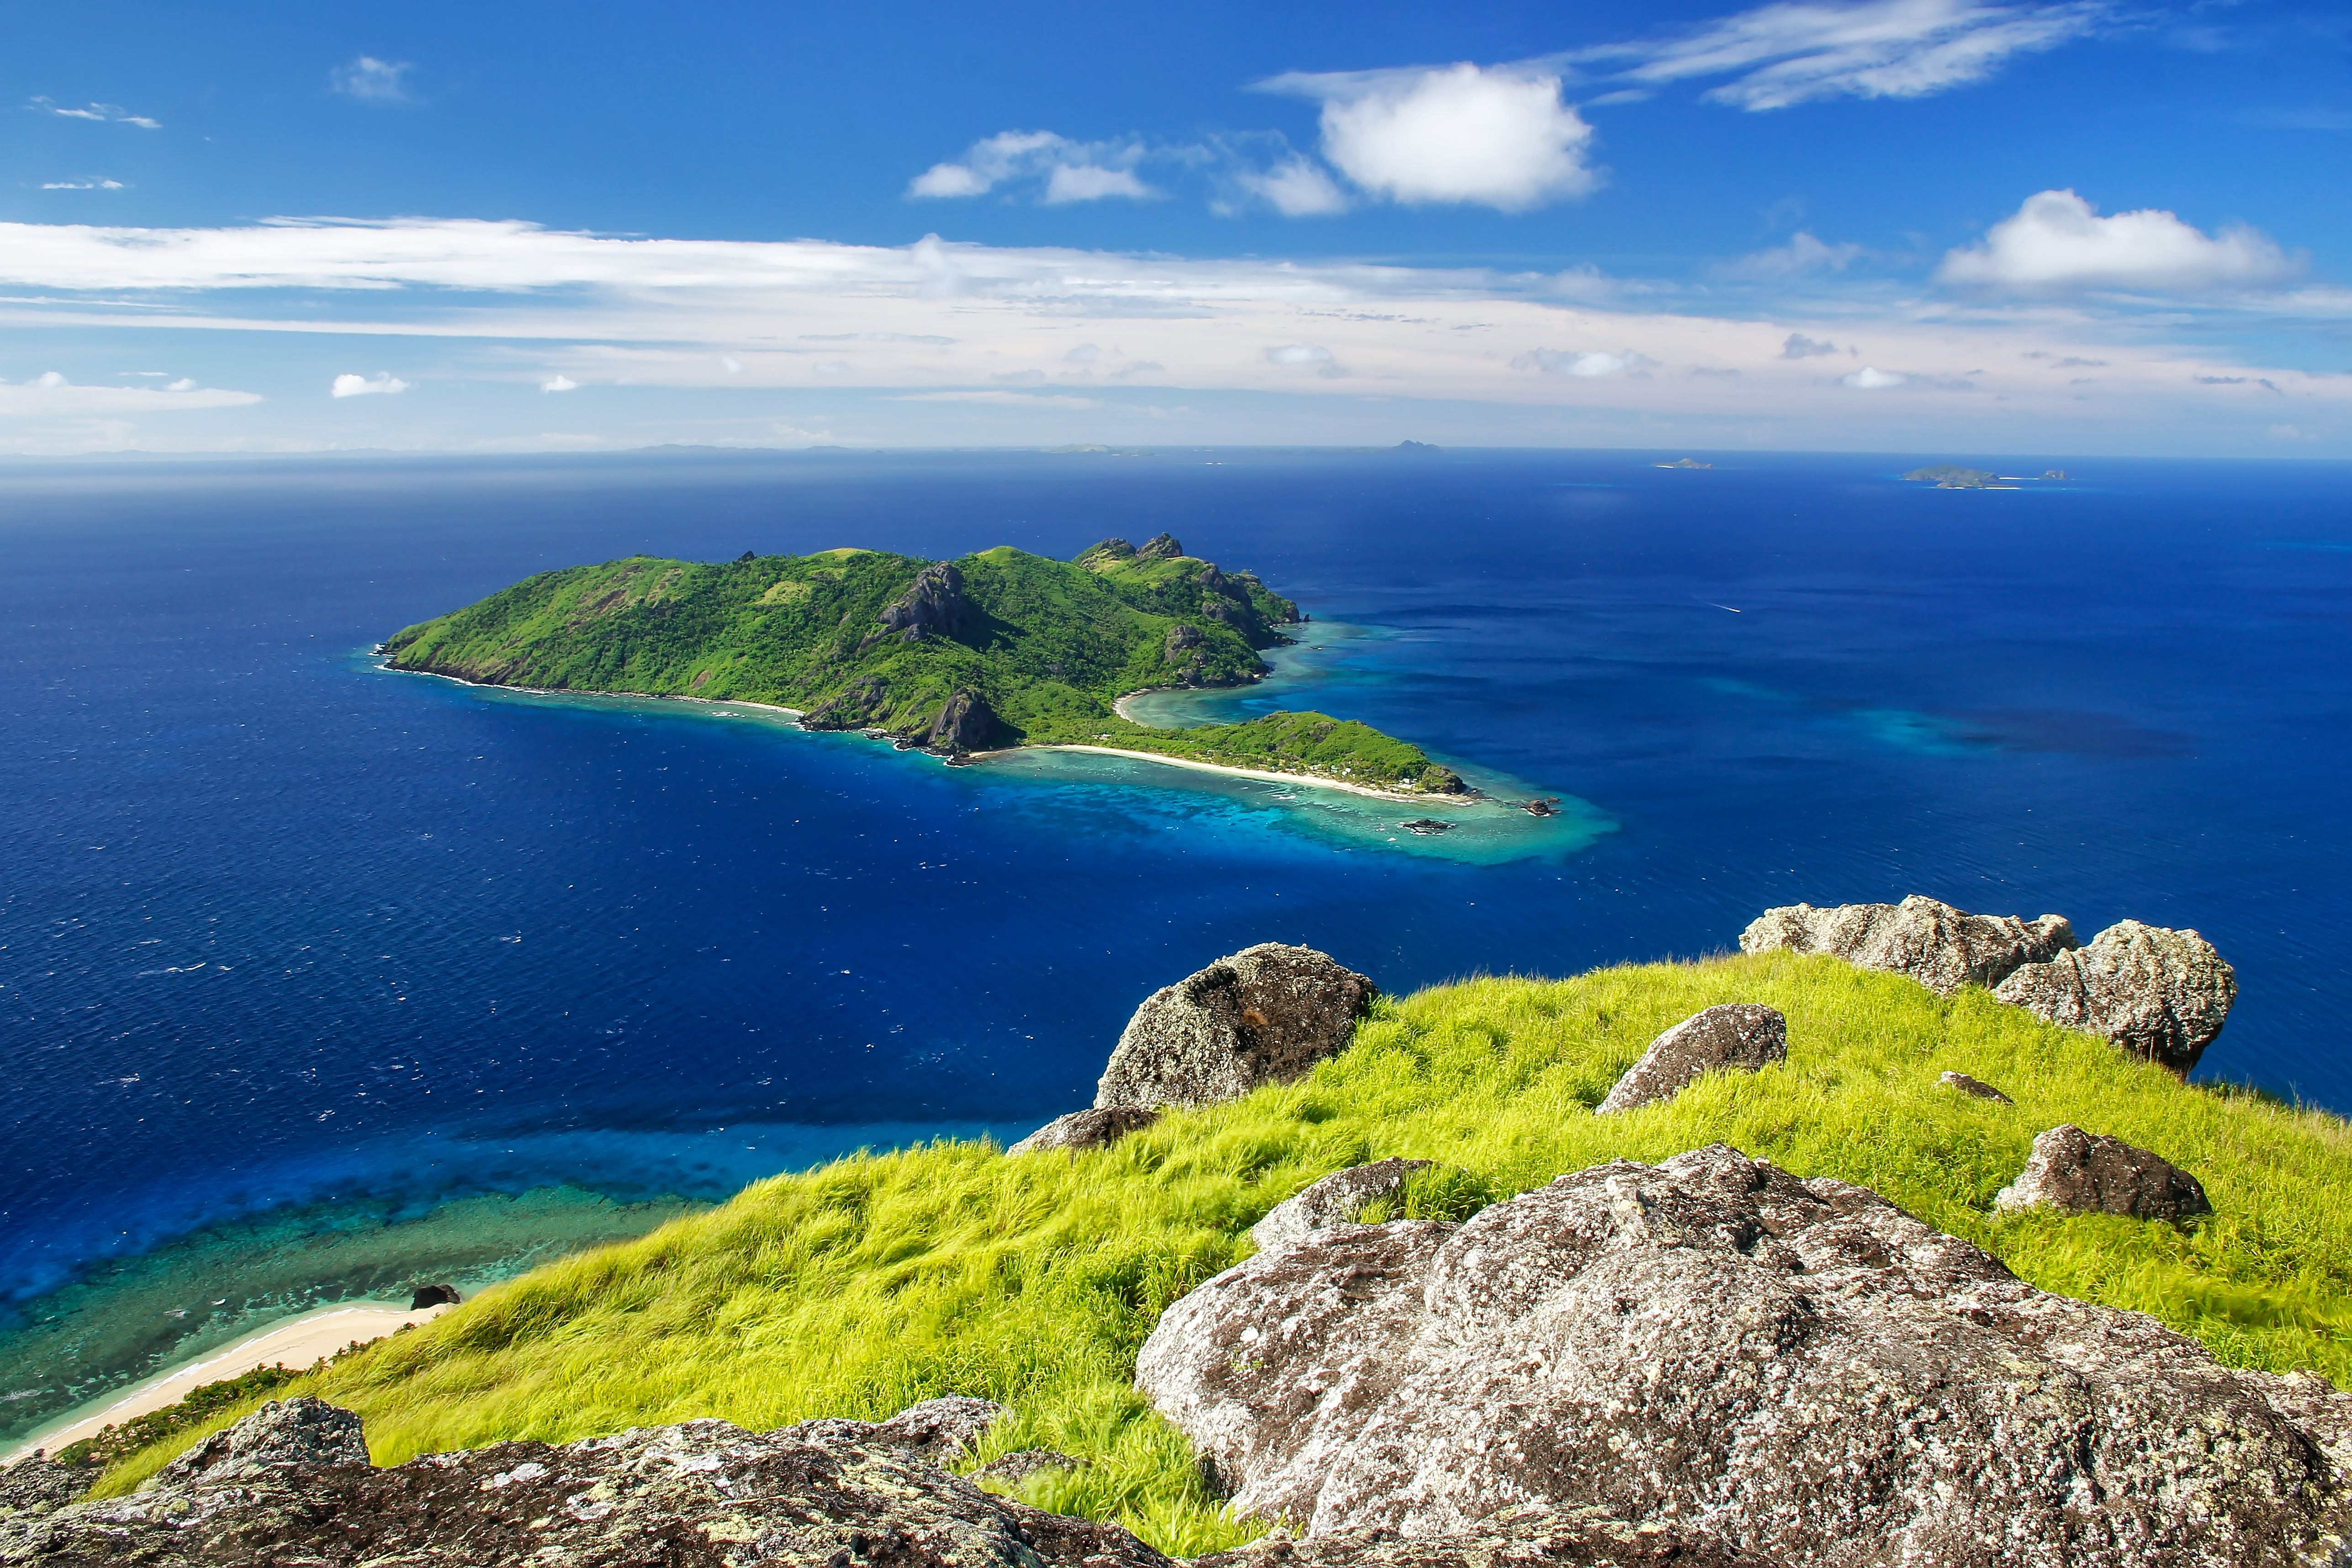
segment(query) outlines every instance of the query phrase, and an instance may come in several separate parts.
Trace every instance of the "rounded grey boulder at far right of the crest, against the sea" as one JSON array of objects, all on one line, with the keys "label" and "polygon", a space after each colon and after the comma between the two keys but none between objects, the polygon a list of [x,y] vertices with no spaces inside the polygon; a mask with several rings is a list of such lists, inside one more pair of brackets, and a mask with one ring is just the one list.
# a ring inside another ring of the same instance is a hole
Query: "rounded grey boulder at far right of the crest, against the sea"
[{"label": "rounded grey boulder at far right of the crest, against the sea", "polygon": [[2237,971],[2194,931],[2124,919],[2079,952],[2025,964],[1992,992],[2187,1077],[2237,1001]]}]

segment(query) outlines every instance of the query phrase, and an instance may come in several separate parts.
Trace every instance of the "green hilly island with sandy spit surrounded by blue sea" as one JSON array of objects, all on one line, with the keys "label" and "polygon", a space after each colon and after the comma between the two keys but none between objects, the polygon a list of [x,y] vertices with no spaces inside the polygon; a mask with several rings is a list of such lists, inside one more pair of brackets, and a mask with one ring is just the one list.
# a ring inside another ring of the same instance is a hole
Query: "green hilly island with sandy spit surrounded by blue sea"
[{"label": "green hilly island with sandy spit surrounded by blue sea", "polygon": [[647,555],[524,578],[383,644],[395,670],[496,686],[771,703],[969,759],[1091,745],[1291,773],[1404,797],[1470,797],[1451,769],[1369,724],[1270,712],[1150,729],[1117,701],[1268,675],[1298,607],[1160,534],[1075,562],[1011,545],[953,562],[887,550]]}]

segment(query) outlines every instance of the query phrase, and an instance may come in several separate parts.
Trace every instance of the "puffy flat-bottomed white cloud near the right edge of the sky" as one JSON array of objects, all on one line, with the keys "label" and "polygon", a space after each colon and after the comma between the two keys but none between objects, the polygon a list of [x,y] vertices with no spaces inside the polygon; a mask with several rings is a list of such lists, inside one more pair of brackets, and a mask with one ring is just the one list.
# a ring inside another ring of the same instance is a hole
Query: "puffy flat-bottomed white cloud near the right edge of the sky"
[{"label": "puffy flat-bottomed white cloud near the right edge of the sky", "polygon": [[2253,228],[2206,235],[2154,207],[2103,219],[2072,190],[2042,190],[2025,197],[2016,216],[1994,223],[1980,244],[1950,252],[1936,280],[2009,294],[2183,294],[2284,282],[2296,270],[2300,268]]}]

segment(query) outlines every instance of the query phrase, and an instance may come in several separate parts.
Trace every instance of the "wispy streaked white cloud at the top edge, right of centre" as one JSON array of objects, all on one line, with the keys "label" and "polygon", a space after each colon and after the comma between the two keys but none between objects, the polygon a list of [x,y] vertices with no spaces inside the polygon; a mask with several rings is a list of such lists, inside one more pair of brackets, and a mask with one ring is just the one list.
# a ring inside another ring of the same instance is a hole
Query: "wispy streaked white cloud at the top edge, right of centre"
[{"label": "wispy streaked white cloud at the top edge, right of centre", "polygon": [[1616,80],[1665,85],[1733,80],[1705,96],[1738,108],[1790,108],[1816,99],[1917,99],[1992,75],[2016,54],[2056,49],[2091,33],[2110,7],[1983,5],[1980,0],[1795,0],[1710,21],[1653,42],[1576,49],[1564,61],[1628,61]]}]

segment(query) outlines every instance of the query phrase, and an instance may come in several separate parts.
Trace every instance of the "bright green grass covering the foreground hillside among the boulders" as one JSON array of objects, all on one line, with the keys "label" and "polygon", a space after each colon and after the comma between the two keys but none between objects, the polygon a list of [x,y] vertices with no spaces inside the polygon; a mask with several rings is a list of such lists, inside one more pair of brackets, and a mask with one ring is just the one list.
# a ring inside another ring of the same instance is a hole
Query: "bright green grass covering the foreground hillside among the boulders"
[{"label": "bright green grass covering the foreground hillside among the boulders", "polygon": [[[1592,1117],[1658,1030],[1717,1001],[1788,1013],[1790,1060],[1675,1103]],[[1962,1070],[2016,1107],[1936,1088]],[[1990,1215],[2032,1135],[2077,1121],[2194,1171],[2216,1215]],[[2187,1088],[2112,1046],[1969,990],[1837,959],[1757,954],[1465,980],[1383,1001],[1308,1079],[1169,1114],[1089,1154],[941,1143],[748,1187],[652,1237],[555,1262],[327,1368],[379,1462],[717,1415],[880,1418],[936,1394],[1011,1406],[985,1460],[1061,1448],[1080,1472],[1018,1495],[1120,1519],[1167,1552],[1251,1535],[1131,1389],[1160,1309],[1249,1255],[1249,1225],[1341,1166],[1444,1161],[1416,1213],[1613,1159],[1733,1143],[1875,1187],[2051,1291],[2152,1312],[2234,1366],[2352,1382],[2352,1138],[2338,1117]],[[219,1422],[214,1422],[219,1425]],[[108,1476],[122,1490],[205,1427]]]}]

